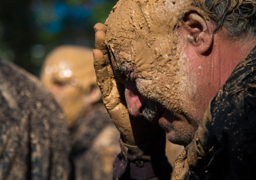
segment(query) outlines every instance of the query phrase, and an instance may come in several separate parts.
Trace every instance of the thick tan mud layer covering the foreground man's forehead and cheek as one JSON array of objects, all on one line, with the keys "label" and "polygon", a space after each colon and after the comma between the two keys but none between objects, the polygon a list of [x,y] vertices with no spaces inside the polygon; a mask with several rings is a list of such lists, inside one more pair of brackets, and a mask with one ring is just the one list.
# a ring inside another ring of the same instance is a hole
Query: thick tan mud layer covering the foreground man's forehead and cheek
[{"label": "thick tan mud layer covering the foreground man's forehead and cheek", "polygon": [[192,3],[190,0],[121,0],[106,22],[106,45],[111,61],[117,65],[131,64],[140,93],[172,111],[180,109],[176,103],[180,97],[175,91],[182,79],[178,73],[181,65],[174,29],[182,12]]}]

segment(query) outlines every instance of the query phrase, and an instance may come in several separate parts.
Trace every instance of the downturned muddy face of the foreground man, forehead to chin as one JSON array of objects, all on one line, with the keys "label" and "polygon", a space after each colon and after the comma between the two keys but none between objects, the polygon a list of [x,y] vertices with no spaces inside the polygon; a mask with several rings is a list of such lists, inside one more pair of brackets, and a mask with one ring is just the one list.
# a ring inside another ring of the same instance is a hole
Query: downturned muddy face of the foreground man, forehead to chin
[{"label": "downturned muddy face of the foreground man, forehead to chin", "polygon": [[148,102],[160,104],[149,108],[155,109],[153,119],[171,142],[182,145],[191,140],[199,121],[191,108],[197,87],[190,82],[189,62],[180,51],[183,42],[175,33],[180,12],[190,4],[186,0],[119,1],[108,18],[106,34],[129,112],[143,115]]}]

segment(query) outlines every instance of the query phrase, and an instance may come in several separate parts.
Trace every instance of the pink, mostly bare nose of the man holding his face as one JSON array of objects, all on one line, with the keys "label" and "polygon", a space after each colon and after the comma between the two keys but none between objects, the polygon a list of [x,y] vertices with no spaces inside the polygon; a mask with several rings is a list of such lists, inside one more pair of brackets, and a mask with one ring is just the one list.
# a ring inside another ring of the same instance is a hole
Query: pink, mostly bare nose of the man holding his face
[{"label": "pink, mostly bare nose of the man holding his face", "polygon": [[125,100],[131,115],[143,115],[141,108],[145,105],[145,99],[140,95],[135,82],[125,83]]}]

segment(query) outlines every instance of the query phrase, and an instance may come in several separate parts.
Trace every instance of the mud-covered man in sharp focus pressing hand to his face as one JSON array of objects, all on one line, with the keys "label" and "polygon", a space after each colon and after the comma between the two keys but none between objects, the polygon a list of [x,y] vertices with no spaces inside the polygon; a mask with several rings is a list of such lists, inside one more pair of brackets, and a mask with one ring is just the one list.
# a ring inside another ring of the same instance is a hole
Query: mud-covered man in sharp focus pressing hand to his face
[{"label": "mud-covered man in sharp focus pressing hand to his face", "polygon": [[[120,0],[95,26],[97,81],[121,133],[115,179],[255,178],[255,12],[254,0]],[[173,170],[163,130],[186,146]]]}]

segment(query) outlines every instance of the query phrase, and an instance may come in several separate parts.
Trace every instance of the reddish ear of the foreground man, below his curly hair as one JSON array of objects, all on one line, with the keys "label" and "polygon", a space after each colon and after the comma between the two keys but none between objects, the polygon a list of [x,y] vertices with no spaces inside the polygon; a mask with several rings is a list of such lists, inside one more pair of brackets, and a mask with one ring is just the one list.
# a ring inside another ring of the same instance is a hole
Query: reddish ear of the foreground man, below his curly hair
[{"label": "reddish ear of the foreground man, below his curly hair", "polygon": [[208,21],[199,11],[189,11],[185,13],[182,23],[179,26],[187,34],[189,43],[195,50],[203,55],[213,42],[213,23]]}]

